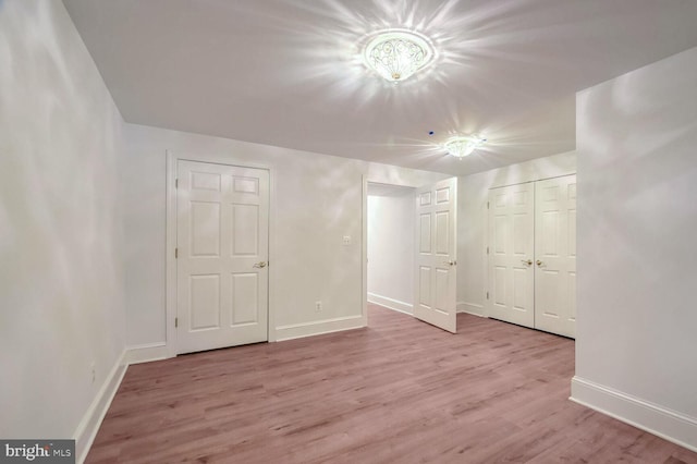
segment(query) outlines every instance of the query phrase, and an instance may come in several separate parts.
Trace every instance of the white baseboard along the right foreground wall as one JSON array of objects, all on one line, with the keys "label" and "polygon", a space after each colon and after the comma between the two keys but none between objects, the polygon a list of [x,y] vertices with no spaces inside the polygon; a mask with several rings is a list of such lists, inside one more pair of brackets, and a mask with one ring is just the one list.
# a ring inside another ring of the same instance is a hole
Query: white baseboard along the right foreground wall
[{"label": "white baseboard along the right foreground wall", "polygon": [[697,419],[574,377],[570,400],[697,452]]}]

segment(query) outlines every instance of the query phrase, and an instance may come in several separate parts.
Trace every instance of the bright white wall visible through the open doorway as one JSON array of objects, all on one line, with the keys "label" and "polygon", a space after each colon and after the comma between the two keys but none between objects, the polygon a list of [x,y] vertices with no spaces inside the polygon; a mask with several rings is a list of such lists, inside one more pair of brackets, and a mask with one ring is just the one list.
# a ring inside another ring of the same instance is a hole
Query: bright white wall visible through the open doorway
[{"label": "bright white wall visible through the open doorway", "polygon": [[368,186],[368,301],[413,312],[414,190]]}]

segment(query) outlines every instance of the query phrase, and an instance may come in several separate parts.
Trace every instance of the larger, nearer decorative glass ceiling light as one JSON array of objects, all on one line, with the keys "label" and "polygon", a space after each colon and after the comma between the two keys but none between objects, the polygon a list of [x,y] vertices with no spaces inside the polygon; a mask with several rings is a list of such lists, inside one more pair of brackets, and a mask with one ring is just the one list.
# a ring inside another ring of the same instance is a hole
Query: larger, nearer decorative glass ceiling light
[{"label": "larger, nearer decorative glass ceiling light", "polygon": [[396,84],[427,65],[433,59],[433,48],[419,34],[388,29],[368,42],[364,58],[368,68]]}]

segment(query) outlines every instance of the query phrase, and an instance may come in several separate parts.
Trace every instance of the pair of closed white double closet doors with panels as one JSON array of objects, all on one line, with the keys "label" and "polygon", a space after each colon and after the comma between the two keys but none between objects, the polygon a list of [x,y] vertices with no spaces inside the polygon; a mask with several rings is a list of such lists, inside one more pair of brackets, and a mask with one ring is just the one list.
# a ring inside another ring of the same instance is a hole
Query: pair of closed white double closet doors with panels
[{"label": "pair of closed white double closet doors with panels", "polygon": [[576,175],[489,192],[489,317],[576,331]]}]

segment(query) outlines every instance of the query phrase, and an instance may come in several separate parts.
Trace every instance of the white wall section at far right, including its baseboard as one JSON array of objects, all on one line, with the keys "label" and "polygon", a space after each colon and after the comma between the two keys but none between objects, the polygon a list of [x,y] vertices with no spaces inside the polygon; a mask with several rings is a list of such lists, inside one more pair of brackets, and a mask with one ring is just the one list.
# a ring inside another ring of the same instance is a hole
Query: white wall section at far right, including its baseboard
[{"label": "white wall section at far right, including its baseboard", "polygon": [[697,48],[578,94],[573,395],[697,449]]}]

